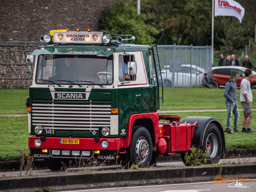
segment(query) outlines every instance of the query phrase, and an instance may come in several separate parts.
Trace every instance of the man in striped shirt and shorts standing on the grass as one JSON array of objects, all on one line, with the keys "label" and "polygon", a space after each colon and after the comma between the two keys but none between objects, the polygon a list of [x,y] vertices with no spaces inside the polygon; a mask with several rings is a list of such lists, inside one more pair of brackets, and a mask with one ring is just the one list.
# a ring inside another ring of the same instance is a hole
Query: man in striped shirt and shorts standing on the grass
[{"label": "man in striped shirt and shorts standing on the grass", "polygon": [[244,109],[244,116],[242,119],[242,126],[243,126],[242,132],[254,133],[250,129],[250,124],[252,119],[252,90],[251,90],[249,79],[252,78],[252,70],[246,69],[244,71],[244,76],[245,77],[241,82],[241,90],[240,90],[240,102]]}]

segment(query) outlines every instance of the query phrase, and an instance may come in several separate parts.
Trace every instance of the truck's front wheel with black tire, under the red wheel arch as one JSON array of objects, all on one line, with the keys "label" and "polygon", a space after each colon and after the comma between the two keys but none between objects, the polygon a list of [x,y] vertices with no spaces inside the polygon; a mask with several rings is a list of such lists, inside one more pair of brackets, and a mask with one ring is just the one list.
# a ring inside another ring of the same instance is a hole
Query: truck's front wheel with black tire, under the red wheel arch
[{"label": "truck's front wheel with black tire, under the red wheel arch", "polygon": [[140,168],[148,167],[151,163],[153,145],[150,133],[145,127],[138,127],[132,134],[129,154],[132,164]]}]

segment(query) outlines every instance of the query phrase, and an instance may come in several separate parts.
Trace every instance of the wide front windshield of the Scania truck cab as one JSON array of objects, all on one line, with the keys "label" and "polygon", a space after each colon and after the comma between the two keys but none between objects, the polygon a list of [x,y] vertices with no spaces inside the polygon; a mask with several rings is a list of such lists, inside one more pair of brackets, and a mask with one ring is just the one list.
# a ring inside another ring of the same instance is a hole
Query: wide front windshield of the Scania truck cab
[{"label": "wide front windshield of the Scania truck cab", "polygon": [[37,84],[112,84],[113,55],[40,55]]}]

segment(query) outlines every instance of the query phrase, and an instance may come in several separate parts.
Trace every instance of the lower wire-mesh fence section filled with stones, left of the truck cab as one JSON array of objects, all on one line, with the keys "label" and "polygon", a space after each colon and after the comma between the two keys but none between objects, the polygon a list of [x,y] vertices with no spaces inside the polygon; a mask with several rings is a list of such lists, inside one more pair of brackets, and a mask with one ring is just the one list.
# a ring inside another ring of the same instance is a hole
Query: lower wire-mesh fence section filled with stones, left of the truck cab
[{"label": "lower wire-mesh fence section filled with stones, left of the truck cab", "polygon": [[36,49],[40,42],[0,42],[0,88],[28,88],[25,57]]}]

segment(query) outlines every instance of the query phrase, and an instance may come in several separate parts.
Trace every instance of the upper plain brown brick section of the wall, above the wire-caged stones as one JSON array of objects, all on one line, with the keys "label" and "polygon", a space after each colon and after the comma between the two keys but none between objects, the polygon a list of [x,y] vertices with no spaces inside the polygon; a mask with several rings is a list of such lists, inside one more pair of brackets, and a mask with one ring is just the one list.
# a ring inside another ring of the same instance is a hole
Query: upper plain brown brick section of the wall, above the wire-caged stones
[{"label": "upper plain brown brick section of the wall, above the wire-caged stones", "polygon": [[0,0],[0,41],[38,41],[49,30],[100,30],[100,18],[118,0]]}]

